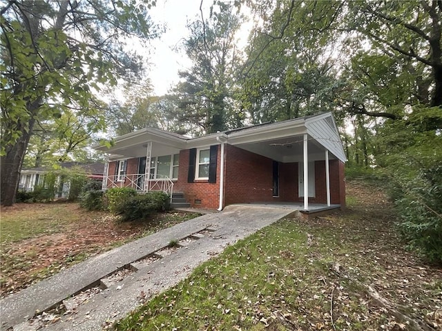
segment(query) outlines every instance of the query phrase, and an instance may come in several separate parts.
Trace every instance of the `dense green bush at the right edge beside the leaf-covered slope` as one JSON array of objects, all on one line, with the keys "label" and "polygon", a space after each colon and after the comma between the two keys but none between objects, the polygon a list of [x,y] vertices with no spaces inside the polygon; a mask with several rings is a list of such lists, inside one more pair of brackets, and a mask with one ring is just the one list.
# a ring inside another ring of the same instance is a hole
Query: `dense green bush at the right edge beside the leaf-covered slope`
[{"label": "dense green bush at the right edge beside the leaf-covered slope", "polygon": [[390,175],[399,228],[432,262],[442,263],[442,113],[415,107],[407,119],[379,130],[378,162]]}]

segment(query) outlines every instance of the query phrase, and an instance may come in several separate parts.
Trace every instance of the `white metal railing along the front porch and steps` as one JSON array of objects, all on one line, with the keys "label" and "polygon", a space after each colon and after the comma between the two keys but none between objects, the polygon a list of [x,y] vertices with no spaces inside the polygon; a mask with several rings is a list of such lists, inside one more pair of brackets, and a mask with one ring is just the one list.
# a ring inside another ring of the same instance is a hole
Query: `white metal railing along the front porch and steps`
[{"label": "white metal railing along the front porch and steps", "polygon": [[162,191],[172,196],[173,181],[169,177],[149,179],[144,182],[146,174],[125,174],[124,176],[104,176],[103,188],[133,188],[140,192]]}]

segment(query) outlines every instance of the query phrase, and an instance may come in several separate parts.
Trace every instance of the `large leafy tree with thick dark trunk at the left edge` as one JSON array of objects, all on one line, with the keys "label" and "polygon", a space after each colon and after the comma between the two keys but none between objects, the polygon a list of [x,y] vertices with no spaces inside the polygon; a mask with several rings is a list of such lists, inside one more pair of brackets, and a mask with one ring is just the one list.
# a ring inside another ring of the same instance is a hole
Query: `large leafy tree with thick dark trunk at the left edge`
[{"label": "large leafy tree with thick dark trunk at the left edge", "polygon": [[[99,84],[141,72],[155,1],[7,1],[1,13],[1,203],[11,205],[35,123],[89,103]],[[95,130],[104,126],[101,119]]]}]

